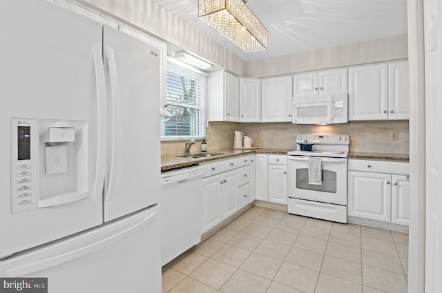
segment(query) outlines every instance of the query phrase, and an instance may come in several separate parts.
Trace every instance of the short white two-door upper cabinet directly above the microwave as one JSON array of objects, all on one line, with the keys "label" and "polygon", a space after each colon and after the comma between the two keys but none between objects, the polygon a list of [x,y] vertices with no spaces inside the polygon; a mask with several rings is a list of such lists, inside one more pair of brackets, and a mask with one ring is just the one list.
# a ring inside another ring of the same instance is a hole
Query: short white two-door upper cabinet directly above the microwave
[{"label": "short white two-door upper cabinet directly above the microwave", "polygon": [[295,74],[294,97],[347,93],[347,68]]}]

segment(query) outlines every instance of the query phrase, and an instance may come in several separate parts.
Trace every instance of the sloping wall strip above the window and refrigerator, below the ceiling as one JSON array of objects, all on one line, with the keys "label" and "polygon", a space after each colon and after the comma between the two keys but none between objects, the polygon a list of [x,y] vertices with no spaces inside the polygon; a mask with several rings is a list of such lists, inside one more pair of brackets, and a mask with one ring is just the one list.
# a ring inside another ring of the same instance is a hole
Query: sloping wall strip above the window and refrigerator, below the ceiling
[{"label": "sloping wall strip above the window and refrigerator, below the ceiling", "polygon": [[246,62],[151,0],[70,0],[84,3],[131,23],[168,43],[192,52],[235,74],[246,74]]}]

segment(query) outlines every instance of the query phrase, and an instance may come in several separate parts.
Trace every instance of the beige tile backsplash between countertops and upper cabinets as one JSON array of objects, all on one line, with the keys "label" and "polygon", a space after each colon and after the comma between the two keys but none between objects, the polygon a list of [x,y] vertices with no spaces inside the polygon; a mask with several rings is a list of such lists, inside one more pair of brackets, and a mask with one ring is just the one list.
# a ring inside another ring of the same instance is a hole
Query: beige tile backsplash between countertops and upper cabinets
[{"label": "beige tile backsplash between countertops and upper cabinets", "polygon": [[[253,146],[260,148],[295,149],[296,134],[338,133],[350,136],[350,151],[409,154],[409,126],[401,121],[351,121],[334,125],[297,125],[293,123],[235,123],[209,122],[207,150],[233,148],[233,134],[241,131],[253,139]],[[398,140],[391,140],[390,133],[398,132]],[[191,152],[199,152],[201,141],[196,141]],[[184,141],[164,141],[162,154],[184,153]]]}]

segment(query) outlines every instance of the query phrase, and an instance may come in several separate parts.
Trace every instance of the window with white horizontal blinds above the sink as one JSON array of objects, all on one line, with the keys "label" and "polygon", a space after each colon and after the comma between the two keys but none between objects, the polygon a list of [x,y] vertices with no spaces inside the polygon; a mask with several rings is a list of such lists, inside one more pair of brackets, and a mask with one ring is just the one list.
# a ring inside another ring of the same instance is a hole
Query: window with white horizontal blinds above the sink
[{"label": "window with white horizontal blinds above the sink", "polygon": [[207,74],[177,61],[167,62],[167,114],[161,117],[162,139],[206,135]]}]

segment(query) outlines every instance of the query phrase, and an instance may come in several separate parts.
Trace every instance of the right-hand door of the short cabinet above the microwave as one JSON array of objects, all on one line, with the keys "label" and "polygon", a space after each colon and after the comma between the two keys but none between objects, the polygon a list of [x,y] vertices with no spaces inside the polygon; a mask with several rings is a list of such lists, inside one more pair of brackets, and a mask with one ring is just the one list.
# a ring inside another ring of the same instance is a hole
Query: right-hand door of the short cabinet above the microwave
[{"label": "right-hand door of the short cabinet above the microwave", "polygon": [[318,73],[319,94],[347,93],[347,69]]}]

